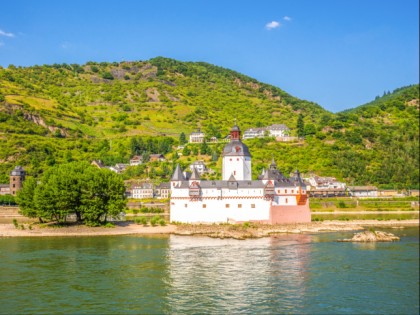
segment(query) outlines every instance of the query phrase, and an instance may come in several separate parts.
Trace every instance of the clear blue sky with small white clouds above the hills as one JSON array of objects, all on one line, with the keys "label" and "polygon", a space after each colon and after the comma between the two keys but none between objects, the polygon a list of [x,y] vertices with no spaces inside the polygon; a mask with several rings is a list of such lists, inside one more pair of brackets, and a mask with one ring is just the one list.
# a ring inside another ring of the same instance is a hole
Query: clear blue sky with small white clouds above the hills
[{"label": "clear blue sky with small white clouds above the hills", "polygon": [[337,112],[419,83],[418,0],[2,1],[0,65],[205,61]]}]

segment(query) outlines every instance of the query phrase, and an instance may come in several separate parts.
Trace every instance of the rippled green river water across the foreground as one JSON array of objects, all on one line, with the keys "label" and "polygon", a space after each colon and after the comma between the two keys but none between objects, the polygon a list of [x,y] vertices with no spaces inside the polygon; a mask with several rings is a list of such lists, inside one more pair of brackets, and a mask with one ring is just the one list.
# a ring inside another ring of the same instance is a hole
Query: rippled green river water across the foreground
[{"label": "rippled green river water across the foreground", "polygon": [[418,228],[392,232],[0,238],[0,313],[418,314]]}]

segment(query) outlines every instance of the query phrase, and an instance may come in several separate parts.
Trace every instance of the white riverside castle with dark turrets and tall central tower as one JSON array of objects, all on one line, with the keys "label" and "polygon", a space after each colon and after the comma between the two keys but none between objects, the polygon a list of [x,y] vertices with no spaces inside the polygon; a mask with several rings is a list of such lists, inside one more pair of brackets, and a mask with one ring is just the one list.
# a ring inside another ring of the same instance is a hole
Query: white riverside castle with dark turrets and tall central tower
[{"label": "white riverside castle with dark turrets and tall central tower", "polygon": [[222,180],[200,180],[196,169],[184,175],[177,165],[171,178],[171,222],[311,222],[306,185],[299,171],[287,178],[273,160],[258,180],[252,180],[251,153],[236,125],[222,158]]}]

